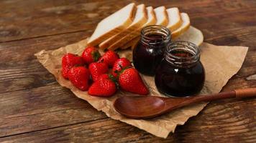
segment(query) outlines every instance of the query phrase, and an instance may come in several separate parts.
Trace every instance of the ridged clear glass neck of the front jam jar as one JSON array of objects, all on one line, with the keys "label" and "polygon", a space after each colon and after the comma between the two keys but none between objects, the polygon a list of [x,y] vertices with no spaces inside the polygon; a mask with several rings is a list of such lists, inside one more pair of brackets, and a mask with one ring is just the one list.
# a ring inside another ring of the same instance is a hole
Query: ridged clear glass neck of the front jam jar
[{"label": "ridged clear glass neck of the front jam jar", "polygon": [[191,67],[200,60],[200,50],[189,41],[174,41],[165,49],[165,60],[173,66]]}]

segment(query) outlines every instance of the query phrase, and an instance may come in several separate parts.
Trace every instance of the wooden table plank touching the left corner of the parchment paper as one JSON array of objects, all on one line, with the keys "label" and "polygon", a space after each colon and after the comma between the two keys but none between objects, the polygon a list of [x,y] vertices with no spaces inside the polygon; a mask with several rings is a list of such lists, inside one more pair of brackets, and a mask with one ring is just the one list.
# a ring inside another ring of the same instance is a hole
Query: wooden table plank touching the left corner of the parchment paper
[{"label": "wooden table plank touching the left corner of the parchment paper", "polygon": [[56,49],[85,39],[86,35],[87,32],[81,31],[1,43],[0,92],[32,89],[55,82],[55,78],[43,68],[34,54],[42,49]]}]

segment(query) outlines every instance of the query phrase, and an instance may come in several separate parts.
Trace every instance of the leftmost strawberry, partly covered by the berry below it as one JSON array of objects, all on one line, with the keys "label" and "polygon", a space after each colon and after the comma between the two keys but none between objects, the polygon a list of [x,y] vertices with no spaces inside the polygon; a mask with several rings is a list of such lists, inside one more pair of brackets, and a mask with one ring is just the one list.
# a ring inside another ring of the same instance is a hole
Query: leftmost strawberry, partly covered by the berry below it
[{"label": "leftmost strawberry, partly covered by the berry below it", "polygon": [[68,71],[73,67],[73,66],[79,66],[83,65],[84,61],[81,56],[78,56],[76,54],[65,54],[62,59],[62,74],[65,79],[68,79]]}]

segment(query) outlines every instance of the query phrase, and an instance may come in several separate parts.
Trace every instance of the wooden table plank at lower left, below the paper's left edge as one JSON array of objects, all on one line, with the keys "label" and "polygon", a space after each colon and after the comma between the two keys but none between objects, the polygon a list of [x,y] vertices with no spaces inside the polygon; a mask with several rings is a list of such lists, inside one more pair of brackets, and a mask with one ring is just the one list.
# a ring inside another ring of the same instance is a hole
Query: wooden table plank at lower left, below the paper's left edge
[{"label": "wooden table plank at lower left, below the paper's left edge", "polygon": [[0,137],[106,118],[58,83],[1,94],[0,102]]}]

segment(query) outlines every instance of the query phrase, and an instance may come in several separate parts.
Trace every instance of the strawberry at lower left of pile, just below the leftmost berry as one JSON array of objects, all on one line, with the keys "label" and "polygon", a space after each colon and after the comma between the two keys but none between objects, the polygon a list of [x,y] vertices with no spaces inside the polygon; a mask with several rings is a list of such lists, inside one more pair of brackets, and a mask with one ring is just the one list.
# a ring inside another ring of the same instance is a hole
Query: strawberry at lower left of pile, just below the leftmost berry
[{"label": "strawberry at lower left of pile, just below the leftmost berry", "polygon": [[84,66],[74,66],[68,71],[68,79],[70,79],[70,82],[83,91],[88,90],[89,78],[90,72]]}]

